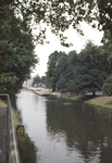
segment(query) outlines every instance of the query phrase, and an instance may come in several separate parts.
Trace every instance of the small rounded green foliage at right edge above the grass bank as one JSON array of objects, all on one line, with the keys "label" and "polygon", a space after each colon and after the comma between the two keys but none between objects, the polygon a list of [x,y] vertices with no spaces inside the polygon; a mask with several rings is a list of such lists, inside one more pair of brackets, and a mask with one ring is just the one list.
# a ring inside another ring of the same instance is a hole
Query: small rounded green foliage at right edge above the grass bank
[{"label": "small rounded green foliage at right edge above the grass bank", "polygon": [[103,93],[112,96],[112,74],[108,76],[103,84]]}]

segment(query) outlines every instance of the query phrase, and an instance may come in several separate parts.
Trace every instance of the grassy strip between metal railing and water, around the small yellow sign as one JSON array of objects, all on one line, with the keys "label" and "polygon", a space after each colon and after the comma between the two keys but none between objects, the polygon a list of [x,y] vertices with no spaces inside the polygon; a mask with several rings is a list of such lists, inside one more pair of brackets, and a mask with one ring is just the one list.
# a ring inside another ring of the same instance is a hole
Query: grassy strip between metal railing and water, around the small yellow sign
[{"label": "grassy strip between metal railing and water, around the small yellow sign", "polygon": [[[12,109],[14,125],[22,125],[21,114],[17,110]],[[37,163],[37,149],[28,135],[24,131],[24,136],[16,136],[22,163]]]}]

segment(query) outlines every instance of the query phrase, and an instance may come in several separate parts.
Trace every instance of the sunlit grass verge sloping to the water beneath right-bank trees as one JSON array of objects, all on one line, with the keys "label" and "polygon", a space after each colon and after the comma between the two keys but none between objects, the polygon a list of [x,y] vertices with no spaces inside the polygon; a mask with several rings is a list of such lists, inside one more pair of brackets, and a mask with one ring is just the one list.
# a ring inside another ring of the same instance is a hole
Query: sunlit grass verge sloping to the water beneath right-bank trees
[{"label": "sunlit grass verge sloping to the water beneath right-bank trees", "polygon": [[62,98],[80,101],[84,103],[89,103],[101,108],[112,109],[112,97],[90,96],[90,95],[85,96],[63,95]]}]

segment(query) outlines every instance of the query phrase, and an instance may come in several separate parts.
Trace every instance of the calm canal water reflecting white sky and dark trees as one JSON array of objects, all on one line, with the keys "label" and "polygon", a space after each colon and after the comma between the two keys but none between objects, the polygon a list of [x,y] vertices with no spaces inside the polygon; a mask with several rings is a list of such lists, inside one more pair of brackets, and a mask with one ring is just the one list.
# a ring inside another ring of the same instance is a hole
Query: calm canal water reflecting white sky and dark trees
[{"label": "calm canal water reflecting white sky and dark trees", "polygon": [[22,121],[38,163],[112,163],[112,111],[22,90]]}]

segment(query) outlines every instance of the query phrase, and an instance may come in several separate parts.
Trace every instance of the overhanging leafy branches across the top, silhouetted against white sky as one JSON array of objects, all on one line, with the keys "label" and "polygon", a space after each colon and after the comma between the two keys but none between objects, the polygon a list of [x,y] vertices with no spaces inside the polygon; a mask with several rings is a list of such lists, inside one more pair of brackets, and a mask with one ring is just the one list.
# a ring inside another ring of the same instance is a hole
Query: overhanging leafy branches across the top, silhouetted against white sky
[{"label": "overhanging leafy branches across the top, silhouetted against white sky", "polygon": [[[1,5],[22,15],[25,23],[30,25],[32,18],[36,25],[46,23],[51,26],[51,32],[60,36],[63,46],[65,42],[63,32],[71,25],[83,35],[80,22],[87,22],[100,30],[111,32],[112,36],[112,1],[111,0],[1,0]],[[96,21],[98,23],[96,23]],[[46,29],[41,27],[37,35],[37,42],[42,43]],[[61,33],[62,32],[62,33]]]}]

